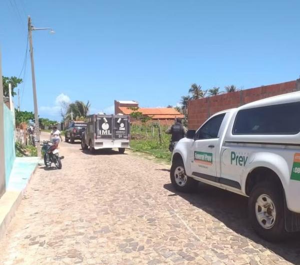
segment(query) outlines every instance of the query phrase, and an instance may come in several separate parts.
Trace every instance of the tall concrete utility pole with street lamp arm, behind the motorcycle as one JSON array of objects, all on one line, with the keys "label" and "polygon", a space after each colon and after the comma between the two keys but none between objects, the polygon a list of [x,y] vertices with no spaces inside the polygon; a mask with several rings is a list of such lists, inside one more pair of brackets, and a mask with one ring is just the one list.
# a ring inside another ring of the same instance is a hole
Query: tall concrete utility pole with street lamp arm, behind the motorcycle
[{"label": "tall concrete utility pole with street lamp arm, behind the motorcycle", "polygon": [[43,27],[43,28],[35,28],[31,24],[31,18],[28,16],[28,38],[29,38],[29,48],[30,48],[30,59],[31,59],[31,75],[32,75],[32,90],[33,90],[33,103],[34,103],[34,123],[35,123],[35,134],[36,134],[36,149],[37,149],[37,157],[41,158],[40,152],[40,133],[39,133],[39,123],[38,123],[38,108],[37,108],[37,98],[36,98],[36,87],[35,87],[35,73],[34,73],[34,61],[33,61],[33,47],[32,47],[32,30],[51,30],[50,33],[54,33],[52,28]]}]

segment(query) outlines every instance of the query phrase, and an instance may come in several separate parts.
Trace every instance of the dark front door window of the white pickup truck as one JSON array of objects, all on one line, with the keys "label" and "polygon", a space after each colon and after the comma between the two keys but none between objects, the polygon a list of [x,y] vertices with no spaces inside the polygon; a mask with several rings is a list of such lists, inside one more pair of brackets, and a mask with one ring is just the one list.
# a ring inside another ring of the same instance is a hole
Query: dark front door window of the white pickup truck
[{"label": "dark front door window of the white pickup truck", "polygon": [[217,138],[218,131],[225,113],[217,115],[206,121],[202,127],[196,132],[196,140]]}]

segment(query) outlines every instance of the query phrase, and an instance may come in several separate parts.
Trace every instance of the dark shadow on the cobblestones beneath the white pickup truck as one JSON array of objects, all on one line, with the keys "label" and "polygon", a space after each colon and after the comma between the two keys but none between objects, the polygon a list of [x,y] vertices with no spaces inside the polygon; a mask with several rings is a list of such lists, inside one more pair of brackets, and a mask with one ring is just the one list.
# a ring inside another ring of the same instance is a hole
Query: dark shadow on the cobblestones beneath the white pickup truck
[{"label": "dark shadow on the cobblestones beneath the white pickup truck", "polygon": [[199,183],[197,191],[192,194],[179,193],[170,183],[163,187],[218,219],[237,234],[264,246],[290,263],[300,264],[300,233],[293,233],[286,241],[277,244],[262,240],[248,223],[246,197],[203,183]]}]

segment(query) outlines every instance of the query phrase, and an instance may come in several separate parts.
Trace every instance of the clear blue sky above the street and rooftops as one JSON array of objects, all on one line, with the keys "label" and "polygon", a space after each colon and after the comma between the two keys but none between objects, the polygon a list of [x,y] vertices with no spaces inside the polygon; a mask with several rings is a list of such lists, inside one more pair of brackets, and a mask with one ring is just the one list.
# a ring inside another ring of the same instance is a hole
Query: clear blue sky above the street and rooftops
[{"label": "clear blue sky above the street and rooftops", "polygon": [[[27,15],[33,32],[39,114],[60,120],[59,102],[113,100],[175,105],[191,83],[243,89],[300,75],[298,0],[1,0],[2,72],[18,76]],[[21,109],[33,110],[30,60]],[[16,103],[16,98],[15,98]]]}]

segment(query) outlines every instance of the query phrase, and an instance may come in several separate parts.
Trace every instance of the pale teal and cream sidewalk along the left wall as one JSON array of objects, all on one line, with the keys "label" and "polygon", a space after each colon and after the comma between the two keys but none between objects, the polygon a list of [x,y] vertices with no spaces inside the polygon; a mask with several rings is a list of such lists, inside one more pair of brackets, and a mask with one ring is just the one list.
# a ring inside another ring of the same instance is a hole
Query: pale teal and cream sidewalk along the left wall
[{"label": "pale teal and cream sidewalk along the left wall", "polygon": [[37,163],[37,157],[17,157],[13,163],[6,192],[0,198],[0,238],[14,216]]}]

